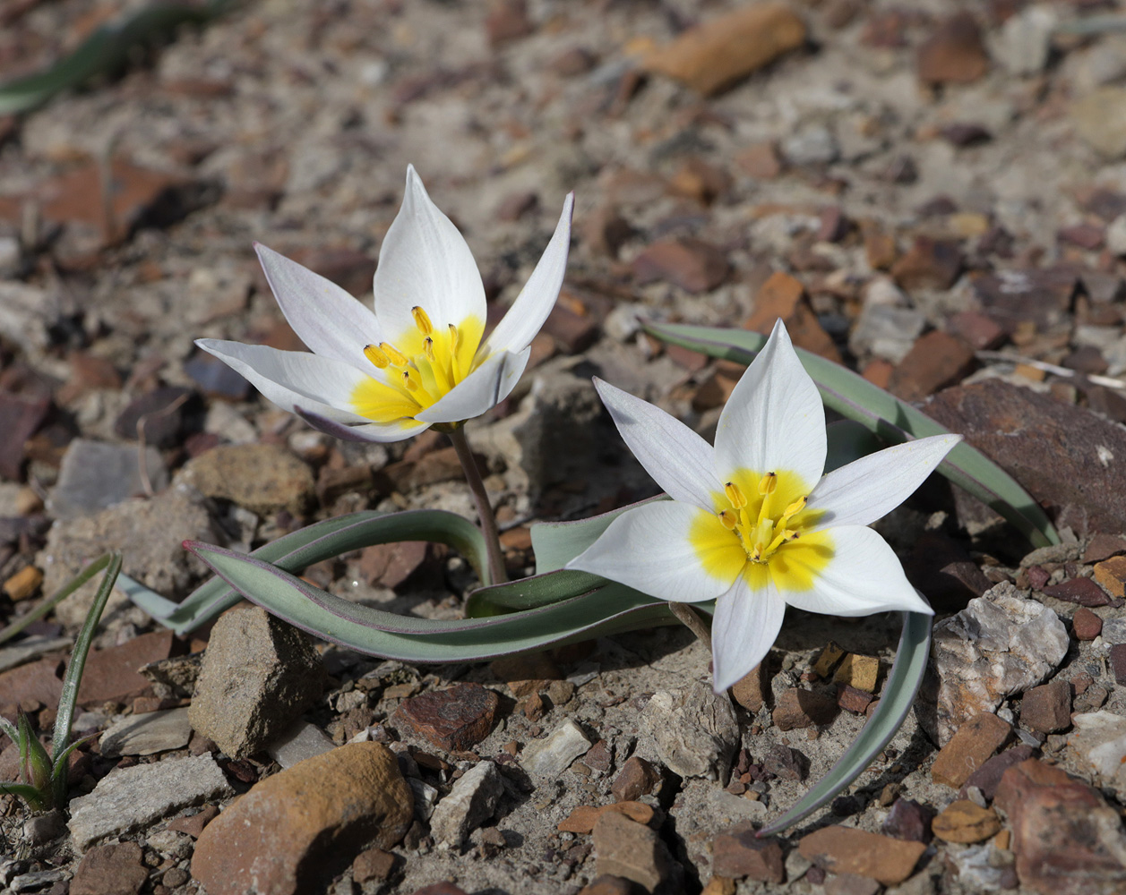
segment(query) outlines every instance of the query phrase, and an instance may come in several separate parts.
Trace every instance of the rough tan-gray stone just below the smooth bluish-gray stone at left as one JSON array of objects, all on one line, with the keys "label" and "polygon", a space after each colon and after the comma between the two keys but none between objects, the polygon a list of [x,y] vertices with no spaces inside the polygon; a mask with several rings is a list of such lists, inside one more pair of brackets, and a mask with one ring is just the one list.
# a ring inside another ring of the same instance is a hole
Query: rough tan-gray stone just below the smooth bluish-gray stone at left
[{"label": "rough tan-gray stone just below the smooth bluish-gray stone at left", "polygon": [[[151,500],[129,500],[96,516],[61,519],[47,532],[47,544],[35,564],[44,571],[43,593],[53,594],[91,560],[108,550],[122,550],[123,571],[158,594],[176,599],[208,573],[184,541],[222,544],[198,492],[170,488]],[[68,626],[81,625],[93,603],[98,579],[87,582],[55,607],[55,617]],[[128,605],[115,588],[105,617]]]}]

